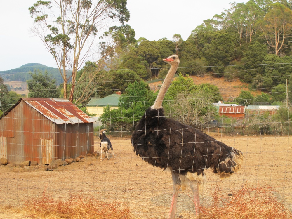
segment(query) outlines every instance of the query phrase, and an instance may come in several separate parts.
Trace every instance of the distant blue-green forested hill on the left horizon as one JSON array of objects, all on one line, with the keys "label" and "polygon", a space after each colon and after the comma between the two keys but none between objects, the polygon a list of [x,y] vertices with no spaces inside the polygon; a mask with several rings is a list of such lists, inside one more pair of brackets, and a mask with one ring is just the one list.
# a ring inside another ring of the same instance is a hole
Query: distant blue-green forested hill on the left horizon
[{"label": "distant blue-green forested hill on the left horizon", "polygon": [[30,79],[28,72],[34,72],[34,69],[39,69],[41,72],[47,71],[48,74],[52,75],[52,77],[57,80],[57,83],[63,83],[63,79],[58,68],[49,67],[39,63],[28,63],[20,66],[19,68],[0,71],[0,76],[4,79],[4,81],[27,81]]}]

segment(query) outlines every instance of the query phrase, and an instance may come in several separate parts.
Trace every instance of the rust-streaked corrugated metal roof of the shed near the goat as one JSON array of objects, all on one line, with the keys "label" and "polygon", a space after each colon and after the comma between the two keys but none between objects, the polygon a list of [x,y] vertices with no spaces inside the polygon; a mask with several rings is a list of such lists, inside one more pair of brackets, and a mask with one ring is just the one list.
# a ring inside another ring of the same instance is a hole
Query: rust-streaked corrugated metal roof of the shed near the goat
[{"label": "rust-streaked corrugated metal roof of the shed near the goat", "polygon": [[43,114],[46,118],[57,124],[63,123],[89,123],[94,122],[67,99],[53,98],[21,98],[32,108]]}]

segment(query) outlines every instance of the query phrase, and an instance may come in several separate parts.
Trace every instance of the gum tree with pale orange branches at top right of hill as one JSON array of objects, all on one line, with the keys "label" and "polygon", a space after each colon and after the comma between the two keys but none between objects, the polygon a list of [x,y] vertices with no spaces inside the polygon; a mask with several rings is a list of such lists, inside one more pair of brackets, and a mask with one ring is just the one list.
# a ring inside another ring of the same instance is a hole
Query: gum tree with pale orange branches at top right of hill
[{"label": "gum tree with pale orange branches at top right of hill", "polygon": [[256,25],[267,44],[274,48],[276,55],[279,55],[281,49],[286,46],[285,42],[291,36],[292,11],[283,4],[271,4],[264,19],[259,20]]}]

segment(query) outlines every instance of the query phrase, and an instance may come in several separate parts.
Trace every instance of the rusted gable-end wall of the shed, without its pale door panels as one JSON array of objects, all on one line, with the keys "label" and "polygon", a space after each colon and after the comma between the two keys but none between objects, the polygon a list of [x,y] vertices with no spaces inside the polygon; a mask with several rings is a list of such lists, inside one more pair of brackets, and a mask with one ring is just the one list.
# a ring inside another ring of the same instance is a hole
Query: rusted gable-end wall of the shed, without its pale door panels
[{"label": "rusted gable-end wall of the shed, without its pale door panels", "polygon": [[4,130],[1,136],[7,137],[8,161],[20,163],[30,160],[42,163],[41,139],[54,137],[54,126],[50,120],[21,101],[0,120],[0,127]]}]

